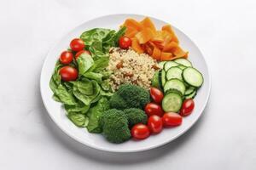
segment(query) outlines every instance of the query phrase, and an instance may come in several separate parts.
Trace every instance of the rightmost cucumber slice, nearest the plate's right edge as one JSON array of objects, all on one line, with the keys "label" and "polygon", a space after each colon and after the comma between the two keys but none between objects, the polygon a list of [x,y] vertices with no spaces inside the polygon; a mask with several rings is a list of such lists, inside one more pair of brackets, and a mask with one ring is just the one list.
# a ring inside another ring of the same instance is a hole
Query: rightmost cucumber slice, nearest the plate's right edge
[{"label": "rightmost cucumber slice, nearest the plate's right edge", "polygon": [[184,82],[187,82],[190,86],[195,88],[200,88],[204,82],[201,72],[192,67],[184,69],[182,76]]}]

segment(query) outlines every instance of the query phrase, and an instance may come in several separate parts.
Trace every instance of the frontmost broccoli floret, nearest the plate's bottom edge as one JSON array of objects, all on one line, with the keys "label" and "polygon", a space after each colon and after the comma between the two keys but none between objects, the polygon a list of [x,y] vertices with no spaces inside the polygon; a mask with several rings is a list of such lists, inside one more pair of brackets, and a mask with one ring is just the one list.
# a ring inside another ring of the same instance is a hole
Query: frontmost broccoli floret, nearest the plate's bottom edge
[{"label": "frontmost broccoli floret, nearest the plate's bottom edge", "polygon": [[116,109],[104,111],[100,117],[102,134],[109,142],[122,143],[131,138],[128,120],[124,111]]}]

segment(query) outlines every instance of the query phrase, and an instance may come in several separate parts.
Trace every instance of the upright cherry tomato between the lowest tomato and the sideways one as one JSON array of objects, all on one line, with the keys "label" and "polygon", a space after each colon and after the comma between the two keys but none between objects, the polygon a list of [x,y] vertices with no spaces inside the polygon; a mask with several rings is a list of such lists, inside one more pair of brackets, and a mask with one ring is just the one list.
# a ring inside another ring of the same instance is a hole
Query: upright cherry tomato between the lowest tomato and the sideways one
[{"label": "upright cherry tomato between the lowest tomato and the sideways one", "polygon": [[148,128],[152,133],[160,133],[163,129],[162,118],[156,115],[149,116]]}]

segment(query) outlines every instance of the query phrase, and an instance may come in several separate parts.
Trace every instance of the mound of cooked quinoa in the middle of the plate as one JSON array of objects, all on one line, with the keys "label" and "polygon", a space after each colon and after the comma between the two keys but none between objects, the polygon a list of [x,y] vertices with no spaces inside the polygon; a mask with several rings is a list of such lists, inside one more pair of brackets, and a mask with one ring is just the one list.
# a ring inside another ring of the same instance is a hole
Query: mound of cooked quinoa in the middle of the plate
[{"label": "mound of cooked quinoa in the middle of the plate", "polygon": [[148,54],[137,54],[131,48],[128,50],[110,48],[108,71],[113,71],[110,83],[113,90],[119,85],[131,83],[143,88],[150,88],[154,72],[159,69],[155,59]]}]

